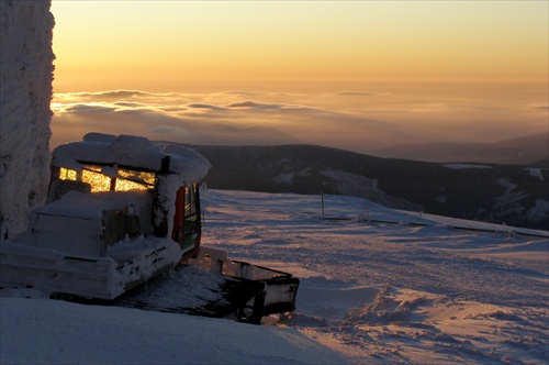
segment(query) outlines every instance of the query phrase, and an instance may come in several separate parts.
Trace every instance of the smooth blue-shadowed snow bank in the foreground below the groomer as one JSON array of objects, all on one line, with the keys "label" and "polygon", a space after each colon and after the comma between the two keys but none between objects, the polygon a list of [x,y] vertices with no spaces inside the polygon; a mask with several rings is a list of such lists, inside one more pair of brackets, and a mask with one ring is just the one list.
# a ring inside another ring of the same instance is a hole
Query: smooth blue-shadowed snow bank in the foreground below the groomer
[{"label": "smooth blue-shadowed snow bank in the foreground below the groomer", "polygon": [[2,364],[334,364],[298,331],[136,309],[2,298]]}]

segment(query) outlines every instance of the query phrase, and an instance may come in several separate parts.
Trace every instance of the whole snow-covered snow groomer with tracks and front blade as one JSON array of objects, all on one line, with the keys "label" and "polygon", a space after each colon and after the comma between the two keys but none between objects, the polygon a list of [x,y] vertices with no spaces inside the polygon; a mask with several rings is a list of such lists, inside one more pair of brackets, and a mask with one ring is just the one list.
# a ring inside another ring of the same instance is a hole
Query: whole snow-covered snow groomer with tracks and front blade
[{"label": "whole snow-covered snow groomer with tracks and front blade", "polygon": [[295,309],[299,279],[201,247],[192,150],[89,133],[53,152],[47,202],[0,242],[0,287],[260,323]]}]

